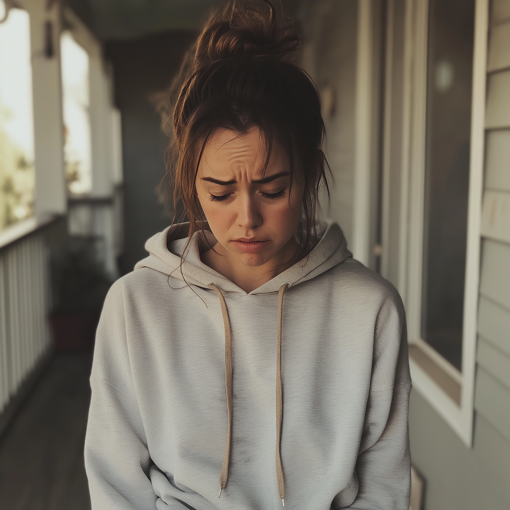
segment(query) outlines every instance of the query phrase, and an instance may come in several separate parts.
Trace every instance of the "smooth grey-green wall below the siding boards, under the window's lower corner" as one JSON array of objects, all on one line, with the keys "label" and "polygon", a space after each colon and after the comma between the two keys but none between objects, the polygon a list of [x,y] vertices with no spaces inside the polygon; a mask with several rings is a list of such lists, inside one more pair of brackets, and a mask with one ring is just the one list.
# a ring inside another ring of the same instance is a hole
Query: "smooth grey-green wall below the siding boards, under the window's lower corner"
[{"label": "smooth grey-green wall below the siding boards, under the window's lower corner", "polygon": [[416,391],[409,413],[411,459],[425,479],[423,510],[507,510],[510,444],[477,413],[466,447]]}]

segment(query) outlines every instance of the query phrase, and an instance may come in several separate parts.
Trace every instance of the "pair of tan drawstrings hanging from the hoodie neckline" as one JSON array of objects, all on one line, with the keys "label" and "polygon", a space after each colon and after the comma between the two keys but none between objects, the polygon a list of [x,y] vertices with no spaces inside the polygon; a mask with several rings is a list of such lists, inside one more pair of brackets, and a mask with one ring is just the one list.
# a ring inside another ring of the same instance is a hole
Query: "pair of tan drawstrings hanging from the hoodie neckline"
[{"label": "pair of tan drawstrings hanging from the hoodie neckline", "polygon": [[[284,305],[284,293],[289,284],[283,284],[278,291],[278,325],[276,333],[276,481],[278,483],[278,494],[282,498],[282,505],[285,506],[285,483],[284,471],[282,468],[282,455],[280,444],[282,440],[283,423],[283,392],[282,392],[282,312]],[[223,327],[225,328],[225,388],[226,405],[228,410],[228,431],[226,436],[225,457],[220,473],[220,493],[225,488],[228,479],[228,462],[230,461],[230,446],[232,441],[232,329],[228,310],[223,294],[214,284],[209,285],[214,289],[220,300],[221,315],[223,316]]]}]

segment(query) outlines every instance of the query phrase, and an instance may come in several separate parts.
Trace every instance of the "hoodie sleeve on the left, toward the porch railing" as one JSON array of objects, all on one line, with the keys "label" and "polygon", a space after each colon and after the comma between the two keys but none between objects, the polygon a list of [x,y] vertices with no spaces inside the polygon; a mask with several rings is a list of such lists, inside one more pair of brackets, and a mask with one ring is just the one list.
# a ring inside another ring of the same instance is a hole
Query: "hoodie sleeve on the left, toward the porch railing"
[{"label": "hoodie sleeve on the left, toward the porch railing", "polygon": [[93,510],[156,510],[125,335],[122,283],[105,301],[90,378],[85,468]]}]

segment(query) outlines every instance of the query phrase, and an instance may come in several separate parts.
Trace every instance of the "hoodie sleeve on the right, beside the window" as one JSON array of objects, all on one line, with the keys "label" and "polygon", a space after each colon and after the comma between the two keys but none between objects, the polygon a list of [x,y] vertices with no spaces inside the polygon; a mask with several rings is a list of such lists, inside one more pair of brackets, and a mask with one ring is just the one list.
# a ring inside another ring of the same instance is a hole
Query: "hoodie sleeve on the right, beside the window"
[{"label": "hoodie sleeve on the right, beside the window", "polygon": [[371,390],[356,462],[359,490],[349,508],[409,510],[411,376],[405,315],[398,295],[382,305],[374,340]]}]

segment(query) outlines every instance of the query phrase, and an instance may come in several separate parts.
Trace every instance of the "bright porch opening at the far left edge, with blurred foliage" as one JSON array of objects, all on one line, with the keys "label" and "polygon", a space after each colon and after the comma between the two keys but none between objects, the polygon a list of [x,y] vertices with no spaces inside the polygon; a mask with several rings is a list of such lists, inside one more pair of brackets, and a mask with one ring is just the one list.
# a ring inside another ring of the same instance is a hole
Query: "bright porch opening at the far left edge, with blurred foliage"
[{"label": "bright porch opening at the far left edge, with blurred foliage", "polygon": [[34,186],[30,16],[11,9],[0,23],[0,230],[34,214]]}]

